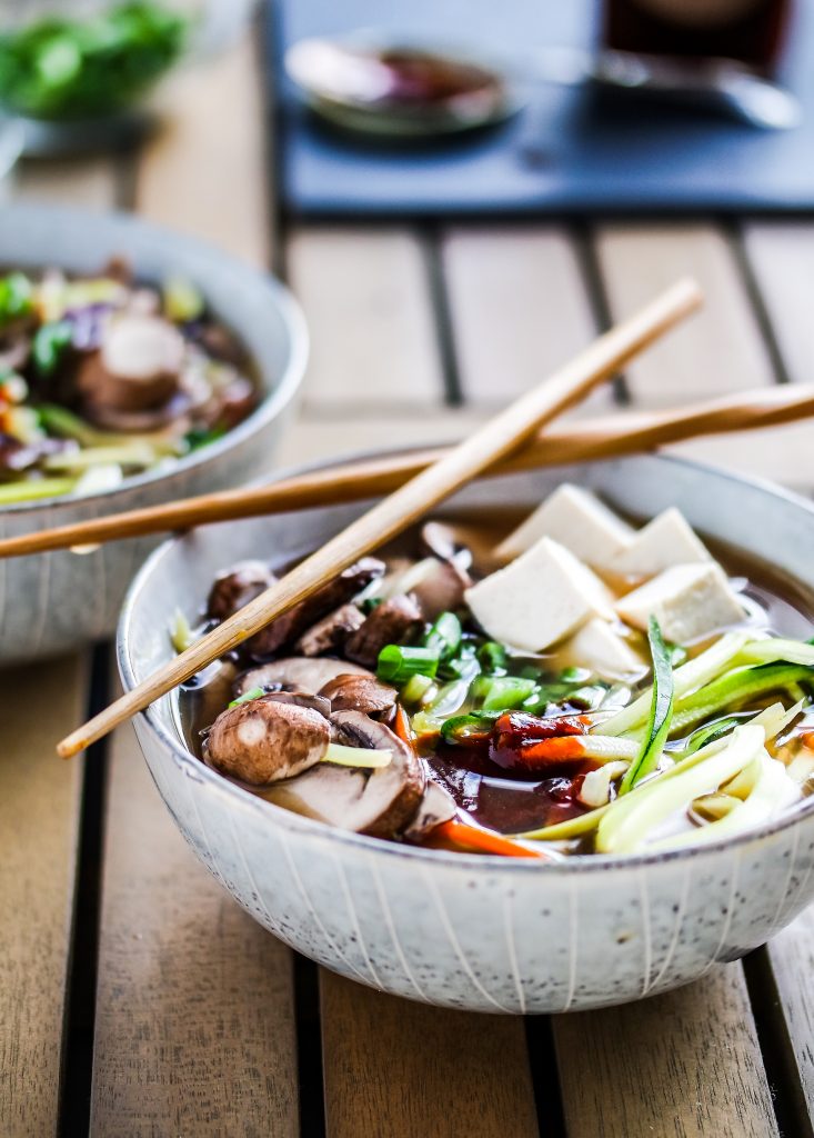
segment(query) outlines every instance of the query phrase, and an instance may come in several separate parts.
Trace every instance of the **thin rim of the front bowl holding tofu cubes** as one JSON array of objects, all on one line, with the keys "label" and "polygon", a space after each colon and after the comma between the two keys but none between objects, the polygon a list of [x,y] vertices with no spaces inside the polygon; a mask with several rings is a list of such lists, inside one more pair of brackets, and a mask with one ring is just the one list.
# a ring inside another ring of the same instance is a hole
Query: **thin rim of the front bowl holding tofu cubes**
[{"label": "thin rim of the front bowl holding tofu cubes", "polygon": [[[297,473],[324,469],[327,465],[339,465],[344,462],[381,457],[388,453],[404,453],[405,450],[417,451],[420,448],[392,447],[390,451],[365,451],[343,455],[335,463],[333,460],[326,460],[301,464],[298,467],[290,467],[275,473],[275,478],[268,479],[268,481],[289,478]],[[723,478],[726,481],[748,486],[749,489],[770,497],[781,498],[797,509],[803,510],[804,513],[807,513],[812,523],[814,523],[813,503],[808,502],[801,495],[796,494],[794,490],[788,490],[767,479],[744,477],[734,471],[716,467],[712,463],[698,462],[695,459],[686,459],[680,455],[647,452],[647,456],[655,457],[657,461],[667,465],[679,468],[683,467],[686,469],[696,470],[701,476],[712,475],[715,478]],[[623,461],[624,459],[631,457],[638,457],[638,455],[623,456]],[[613,461],[618,460],[601,460],[598,464],[601,465]],[[235,519],[234,522],[229,522],[229,525],[251,520],[256,519]],[[127,589],[116,634],[116,657],[119,675],[125,691],[132,690],[136,683],[128,643],[128,627],[132,621],[133,613],[139,605],[142,592],[149,588],[150,577],[157,566],[165,556],[169,556],[176,544],[183,542],[185,537],[186,535],[181,534],[163,542],[161,545],[159,545],[158,549],[155,550],[142,564]],[[144,724],[147,728],[152,732],[155,736],[157,736],[158,741],[167,751],[166,758],[172,758],[186,776],[193,777],[199,782],[204,782],[213,786],[216,792],[225,794],[226,798],[233,800],[234,803],[242,809],[259,811],[260,816],[267,819],[272,826],[281,825],[283,830],[293,831],[322,842],[338,842],[340,846],[349,847],[360,853],[367,852],[371,855],[377,853],[383,857],[407,858],[416,861],[416,864],[442,864],[449,866],[450,868],[458,867],[459,869],[466,869],[467,872],[471,871],[473,866],[480,865],[489,869],[496,869],[500,866],[506,872],[512,873],[540,873],[545,871],[547,874],[554,873],[562,876],[573,873],[607,873],[613,869],[636,869],[651,865],[664,865],[682,861],[688,858],[703,857],[706,853],[714,855],[726,850],[737,850],[753,842],[761,841],[762,839],[771,838],[791,826],[797,826],[806,818],[814,815],[814,794],[812,794],[808,798],[803,799],[803,801],[797,803],[796,807],[792,807],[784,814],[780,815],[780,817],[764,823],[762,826],[755,826],[740,834],[733,834],[730,838],[722,838],[717,841],[701,842],[697,846],[687,846],[674,850],[659,850],[653,852],[643,851],[640,853],[575,853],[570,855],[562,860],[543,861],[541,866],[540,860],[535,858],[510,858],[493,853],[468,853],[465,851],[452,852],[451,850],[433,850],[421,846],[407,846],[401,842],[383,841],[380,838],[371,838],[366,834],[356,833],[352,830],[341,830],[338,826],[319,822],[316,818],[308,818],[304,815],[294,814],[292,810],[286,810],[282,806],[277,806],[274,802],[268,802],[265,799],[258,798],[256,794],[252,794],[251,791],[244,790],[242,786],[230,782],[227,778],[224,778],[223,775],[213,770],[211,767],[201,762],[197,756],[192,754],[192,752],[183,745],[177,735],[169,732],[165,727],[160,716],[156,711],[156,704],[150,704],[144,711],[139,711],[134,723],[135,721]],[[139,740],[139,745],[141,747],[141,740]],[[144,757],[144,761],[147,761],[143,747],[142,757]]]}]

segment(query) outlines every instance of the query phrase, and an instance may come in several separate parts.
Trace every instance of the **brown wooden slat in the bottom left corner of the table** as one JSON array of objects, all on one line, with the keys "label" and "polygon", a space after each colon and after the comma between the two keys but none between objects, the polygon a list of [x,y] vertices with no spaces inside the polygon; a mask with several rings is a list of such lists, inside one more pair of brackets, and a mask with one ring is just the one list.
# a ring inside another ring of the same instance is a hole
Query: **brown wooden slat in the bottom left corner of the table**
[{"label": "brown wooden slat in the bottom left corner of the table", "polygon": [[0,685],[0,1133],[57,1132],[82,764],[53,742],[85,703],[77,658]]}]

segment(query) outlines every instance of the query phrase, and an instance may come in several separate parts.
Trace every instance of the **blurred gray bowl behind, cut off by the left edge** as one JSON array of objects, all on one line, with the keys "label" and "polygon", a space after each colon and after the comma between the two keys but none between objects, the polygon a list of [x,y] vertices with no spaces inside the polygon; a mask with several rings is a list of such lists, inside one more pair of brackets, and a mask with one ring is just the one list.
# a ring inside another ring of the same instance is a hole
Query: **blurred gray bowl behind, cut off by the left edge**
[{"label": "blurred gray bowl behind, cut off by the left edge", "polygon": [[[143,280],[189,278],[247,346],[264,388],[243,423],[169,470],[127,479],[83,498],[0,508],[0,536],[13,537],[100,514],[238,486],[267,471],[302,381],[308,338],[289,292],[272,278],[201,244],[124,214],[49,206],[0,211],[0,266],[97,272],[121,254]],[[134,570],[156,538],[115,542],[0,561],[0,665],[55,655],[110,635]]]}]

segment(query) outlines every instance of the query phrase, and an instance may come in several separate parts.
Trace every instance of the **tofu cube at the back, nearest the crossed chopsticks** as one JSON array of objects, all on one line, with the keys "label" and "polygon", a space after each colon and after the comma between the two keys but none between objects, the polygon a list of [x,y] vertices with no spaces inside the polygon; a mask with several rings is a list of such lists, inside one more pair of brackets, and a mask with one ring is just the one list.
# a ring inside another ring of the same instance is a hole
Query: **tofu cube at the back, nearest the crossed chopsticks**
[{"label": "tofu cube at the back, nearest the crossed chopsticks", "polygon": [[589,490],[563,483],[500,543],[496,553],[509,561],[541,537],[551,537],[587,564],[605,569],[634,536],[632,526]]}]

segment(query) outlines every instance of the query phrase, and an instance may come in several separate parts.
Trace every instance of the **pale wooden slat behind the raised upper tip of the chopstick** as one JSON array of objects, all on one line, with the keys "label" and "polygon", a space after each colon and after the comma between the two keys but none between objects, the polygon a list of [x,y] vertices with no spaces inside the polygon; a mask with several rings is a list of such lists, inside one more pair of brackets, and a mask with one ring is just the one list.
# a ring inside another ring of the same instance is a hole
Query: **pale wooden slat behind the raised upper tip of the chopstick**
[{"label": "pale wooden slat behind the raised upper tip of the chopstick", "polygon": [[630,313],[676,277],[691,273],[704,310],[630,365],[639,406],[688,403],[774,381],[761,329],[725,237],[711,225],[615,224],[597,234],[610,311]]}]

